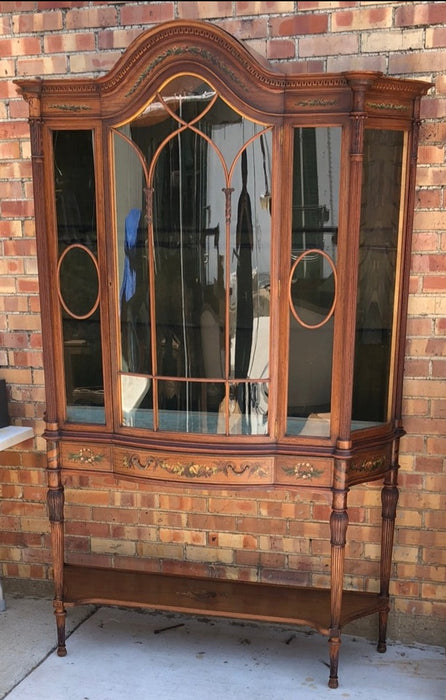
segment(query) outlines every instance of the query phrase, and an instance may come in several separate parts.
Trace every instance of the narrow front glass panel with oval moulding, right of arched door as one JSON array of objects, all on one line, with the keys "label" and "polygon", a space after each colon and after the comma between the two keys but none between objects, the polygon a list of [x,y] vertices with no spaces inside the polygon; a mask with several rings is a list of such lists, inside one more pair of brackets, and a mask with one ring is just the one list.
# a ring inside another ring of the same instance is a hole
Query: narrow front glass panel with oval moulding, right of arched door
[{"label": "narrow front glass panel with oval moulding, right of arched door", "polygon": [[341,129],[294,131],[287,434],[330,435]]}]

